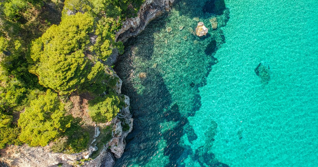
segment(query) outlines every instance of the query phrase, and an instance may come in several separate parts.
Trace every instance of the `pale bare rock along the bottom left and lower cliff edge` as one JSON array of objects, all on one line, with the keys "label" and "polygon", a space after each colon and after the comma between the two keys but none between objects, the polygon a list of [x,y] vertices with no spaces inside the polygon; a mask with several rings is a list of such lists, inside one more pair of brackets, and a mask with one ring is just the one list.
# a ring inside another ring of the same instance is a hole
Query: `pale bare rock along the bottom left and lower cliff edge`
[{"label": "pale bare rock along the bottom left and lower cliff edge", "polygon": [[[114,74],[115,77],[118,77]],[[116,84],[117,93],[121,93],[122,81],[118,77]],[[82,99],[85,101],[86,99]],[[114,165],[114,156],[120,158],[124,152],[126,142],[125,138],[131,132],[133,127],[132,115],[129,112],[129,97],[124,95],[124,107],[117,116],[111,121],[102,124],[95,124],[92,128],[94,134],[93,141],[86,151],[75,154],[54,153],[51,151],[51,145],[45,147],[29,147],[24,144],[22,146],[10,145],[8,148],[1,150],[0,162],[8,164],[10,167],[49,167],[60,165],[63,167],[83,166],[83,167],[112,167]],[[79,104],[74,104],[76,105]],[[83,111],[85,112],[85,111]],[[100,136],[99,127],[104,124],[113,125],[112,136],[101,150],[98,150],[96,141]],[[126,129],[122,127],[126,125]],[[128,127],[128,129],[127,129]],[[98,155],[91,159],[90,156],[94,151],[98,151]]]}]

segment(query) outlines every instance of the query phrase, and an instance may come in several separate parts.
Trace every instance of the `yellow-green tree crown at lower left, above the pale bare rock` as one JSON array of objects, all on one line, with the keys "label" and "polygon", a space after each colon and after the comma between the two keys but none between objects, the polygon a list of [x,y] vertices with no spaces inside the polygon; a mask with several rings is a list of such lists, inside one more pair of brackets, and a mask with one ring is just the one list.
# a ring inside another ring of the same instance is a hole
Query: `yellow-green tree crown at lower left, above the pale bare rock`
[{"label": "yellow-green tree crown at lower left, above the pale bare rock", "polygon": [[70,127],[72,116],[65,116],[64,104],[50,89],[32,100],[30,107],[20,114],[19,139],[30,146],[45,146]]}]

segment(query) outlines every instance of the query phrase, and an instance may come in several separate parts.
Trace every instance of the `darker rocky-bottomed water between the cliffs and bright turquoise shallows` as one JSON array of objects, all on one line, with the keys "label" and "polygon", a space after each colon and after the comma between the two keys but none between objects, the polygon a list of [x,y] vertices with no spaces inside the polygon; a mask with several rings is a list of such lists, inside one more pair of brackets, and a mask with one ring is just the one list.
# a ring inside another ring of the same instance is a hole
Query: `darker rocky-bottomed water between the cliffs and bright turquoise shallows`
[{"label": "darker rocky-bottomed water between the cliffs and bright turquoise shallows", "polygon": [[[115,166],[227,166],[208,153],[211,145],[192,150],[198,136],[188,121],[201,106],[198,88],[218,63],[214,54],[225,42],[220,27],[229,11],[224,3],[213,5],[175,2],[169,13],[125,43],[115,71],[123,80],[122,92],[131,98],[134,129]],[[196,35],[198,22],[209,29],[206,36]]]}]

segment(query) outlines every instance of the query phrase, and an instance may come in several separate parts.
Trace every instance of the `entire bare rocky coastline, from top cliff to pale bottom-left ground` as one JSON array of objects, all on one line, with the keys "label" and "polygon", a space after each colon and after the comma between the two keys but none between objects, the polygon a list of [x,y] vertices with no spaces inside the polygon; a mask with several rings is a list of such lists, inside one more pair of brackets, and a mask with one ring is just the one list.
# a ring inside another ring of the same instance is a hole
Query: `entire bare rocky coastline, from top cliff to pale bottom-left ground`
[{"label": "entire bare rocky coastline, from top cliff to pale bottom-left ground", "polygon": [[[130,37],[134,37],[142,32],[148,23],[169,11],[174,0],[146,0],[137,13],[137,17],[128,18],[122,25],[122,28],[116,33],[116,41],[125,42]],[[116,74],[114,76],[118,77]],[[119,77],[118,77],[119,78]],[[119,78],[117,83],[117,93],[121,94],[122,81]],[[112,167],[115,163],[115,157],[120,158],[124,152],[126,142],[125,138],[132,131],[133,118],[129,112],[129,97],[125,96],[125,107],[112,120],[113,126],[112,138],[107,145],[104,146],[98,156],[93,160],[88,157],[97,150],[95,140],[99,136],[99,128],[95,126],[94,140],[90,148],[85,152],[76,154],[53,153],[49,146],[45,147],[29,147],[9,146],[9,149],[2,150],[2,158],[0,167],[51,167],[51,166],[83,166],[83,167]],[[122,123],[129,125],[128,131],[123,131]],[[79,161],[86,159],[86,161]],[[80,162],[80,163],[79,163]]]}]

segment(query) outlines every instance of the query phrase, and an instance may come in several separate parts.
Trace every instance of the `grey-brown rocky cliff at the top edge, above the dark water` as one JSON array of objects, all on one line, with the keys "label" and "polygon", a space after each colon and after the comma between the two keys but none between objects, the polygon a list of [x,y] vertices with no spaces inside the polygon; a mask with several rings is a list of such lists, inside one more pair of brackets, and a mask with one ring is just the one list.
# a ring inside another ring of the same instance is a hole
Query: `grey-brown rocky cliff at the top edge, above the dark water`
[{"label": "grey-brown rocky cliff at the top edge, above the dark water", "polygon": [[162,13],[169,11],[175,0],[146,0],[137,13],[137,17],[128,18],[116,33],[116,41],[126,41],[138,35],[148,23]]}]

